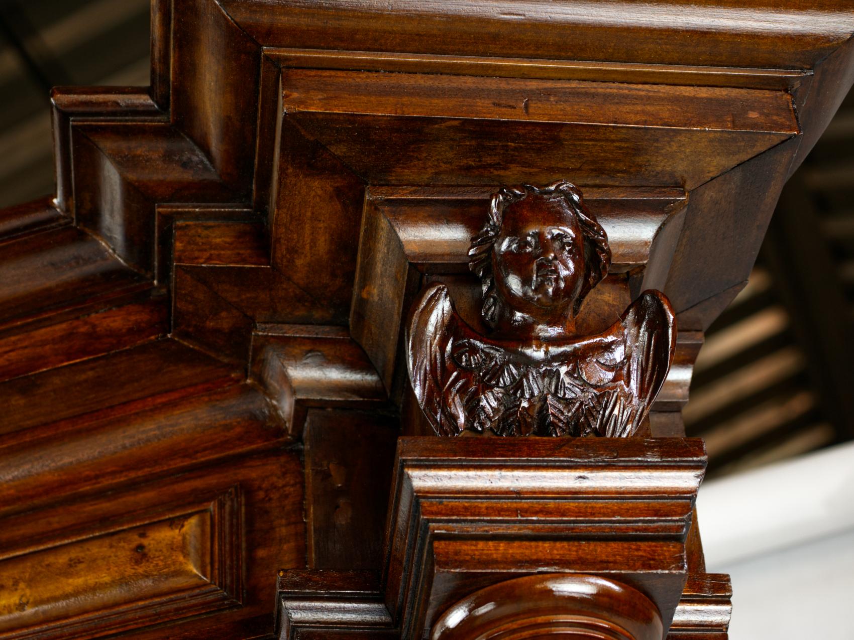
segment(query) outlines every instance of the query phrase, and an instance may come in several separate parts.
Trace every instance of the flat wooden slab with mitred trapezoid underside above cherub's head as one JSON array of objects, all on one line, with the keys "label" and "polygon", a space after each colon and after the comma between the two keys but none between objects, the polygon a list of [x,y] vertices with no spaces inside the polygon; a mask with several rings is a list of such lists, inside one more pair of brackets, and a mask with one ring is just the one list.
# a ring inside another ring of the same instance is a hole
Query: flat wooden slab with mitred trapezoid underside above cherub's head
[{"label": "flat wooden slab with mitred trapezoid underside above cherub's head", "polygon": [[283,90],[286,119],[371,183],[690,188],[799,131],[781,91],[301,69]]}]

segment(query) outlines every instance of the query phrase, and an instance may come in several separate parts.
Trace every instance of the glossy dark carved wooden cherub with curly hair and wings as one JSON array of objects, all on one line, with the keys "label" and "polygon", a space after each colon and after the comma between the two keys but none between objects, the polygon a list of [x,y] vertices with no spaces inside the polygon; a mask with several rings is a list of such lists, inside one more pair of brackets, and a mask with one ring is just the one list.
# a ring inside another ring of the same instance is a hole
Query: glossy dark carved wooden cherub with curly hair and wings
[{"label": "glossy dark carved wooden cherub with curly hair and wings", "polygon": [[611,265],[581,191],[564,180],[500,189],[469,259],[491,334],[459,317],[442,284],[421,292],[407,331],[412,388],[436,433],[635,433],[670,369],[676,318],[651,290],[609,329],[576,335]]}]

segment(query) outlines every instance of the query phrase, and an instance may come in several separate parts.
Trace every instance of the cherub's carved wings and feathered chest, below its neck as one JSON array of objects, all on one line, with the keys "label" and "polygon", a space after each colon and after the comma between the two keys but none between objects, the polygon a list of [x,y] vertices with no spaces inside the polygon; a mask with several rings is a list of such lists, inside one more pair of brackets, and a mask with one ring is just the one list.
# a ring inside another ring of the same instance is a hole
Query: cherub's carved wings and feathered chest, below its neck
[{"label": "cherub's carved wings and feathered chest, below its neck", "polygon": [[407,332],[418,404],[439,435],[635,433],[670,368],[676,327],[666,298],[648,291],[603,334],[550,343],[537,361],[516,343],[477,334],[447,287],[424,289]]}]

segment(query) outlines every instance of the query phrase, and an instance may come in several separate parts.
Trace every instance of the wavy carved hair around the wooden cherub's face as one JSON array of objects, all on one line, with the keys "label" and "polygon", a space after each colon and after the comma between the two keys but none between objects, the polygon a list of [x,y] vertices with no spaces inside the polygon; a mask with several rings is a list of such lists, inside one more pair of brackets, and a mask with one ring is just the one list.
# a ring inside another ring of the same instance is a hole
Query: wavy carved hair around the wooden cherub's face
[{"label": "wavy carved hair around the wooden cherub's face", "polygon": [[596,218],[588,211],[582,199],[582,192],[572,183],[559,180],[547,187],[538,188],[530,184],[520,187],[502,187],[492,196],[489,205],[489,216],[483,229],[471,239],[469,249],[469,268],[480,277],[483,286],[483,322],[494,327],[498,321],[501,305],[504,304],[495,290],[495,277],[492,270],[492,256],[495,240],[504,222],[504,211],[513,202],[524,200],[528,195],[535,194],[544,197],[559,195],[570,207],[581,227],[584,246],[584,280],[578,297],[572,305],[572,315],[575,316],[590,290],[594,288],[608,273],[611,266],[611,247],[608,236]]}]

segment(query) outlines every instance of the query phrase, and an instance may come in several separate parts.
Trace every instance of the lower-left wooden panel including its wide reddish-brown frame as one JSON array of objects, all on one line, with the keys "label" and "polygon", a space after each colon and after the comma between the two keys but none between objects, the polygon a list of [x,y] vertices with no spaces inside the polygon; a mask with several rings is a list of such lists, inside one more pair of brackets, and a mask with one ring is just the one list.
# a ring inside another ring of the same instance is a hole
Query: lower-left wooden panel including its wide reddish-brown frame
[{"label": "lower-left wooden panel including its wide reddish-brown frame", "polygon": [[[178,637],[271,630],[266,569],[305,562],[301,473],[297,456],[277,451],[85,497],[55,490],[35,513],[6,515],[0,583],[15,607],[28,597],[34,626],[16,617],[3,637],[155,638],[164,622]],[[56,573],[31,571],[36,561]]]}]

